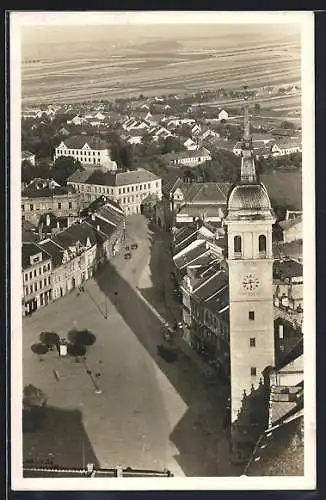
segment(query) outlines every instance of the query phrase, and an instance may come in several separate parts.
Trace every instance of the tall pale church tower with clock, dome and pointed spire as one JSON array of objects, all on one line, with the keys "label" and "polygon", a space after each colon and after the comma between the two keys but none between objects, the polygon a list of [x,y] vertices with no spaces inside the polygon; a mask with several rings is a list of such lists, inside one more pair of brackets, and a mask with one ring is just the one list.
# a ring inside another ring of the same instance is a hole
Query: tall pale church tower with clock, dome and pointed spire
[{"label": "tall pale church tower with clock, dome and pointed spire", "polygon": [[[247,101],[247,98],[245,98]],[[245,103],[241,179],[228,198],[227,226],[230,295],[231,424],[244,391],[249,394],[274,366],[272,225],[268,193],[257,178]]]}]

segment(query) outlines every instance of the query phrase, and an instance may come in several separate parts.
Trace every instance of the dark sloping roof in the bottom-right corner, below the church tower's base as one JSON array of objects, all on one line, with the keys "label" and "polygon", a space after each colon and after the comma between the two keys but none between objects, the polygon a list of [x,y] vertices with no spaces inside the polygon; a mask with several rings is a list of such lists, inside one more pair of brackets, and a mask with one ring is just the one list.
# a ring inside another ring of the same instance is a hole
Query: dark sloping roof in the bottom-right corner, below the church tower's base
[{"label": "dark sloping roof in the bottom-right corner, below the church tower's base", "polygon": [[265,432],[245,475],[304,475],[303,416]]}]

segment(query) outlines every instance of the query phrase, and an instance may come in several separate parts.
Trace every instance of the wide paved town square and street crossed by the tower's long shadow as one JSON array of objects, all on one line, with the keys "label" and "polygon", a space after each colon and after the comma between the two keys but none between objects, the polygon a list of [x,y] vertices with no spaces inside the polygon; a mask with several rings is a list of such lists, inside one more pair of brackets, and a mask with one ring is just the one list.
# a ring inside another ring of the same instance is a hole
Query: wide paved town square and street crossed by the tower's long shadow
[{"label": "wide paved town square and street crossed by the tower's long shadow", "polygon": [[[24,386],[41,388],[52,408],[43,431],[24,434],[25,456],[52,453],[60,465],[168,468],[178,476],[236,475],[221,430],[222,389],[205,388],[196,364],[182,353],[170,364],[157,355],[162,323],[156,310],[169,320],[178,313],[167,303],[166,238],[148,230],[142,216],[129,219],[127,234],[126,244],[138,243],[130,260],[121,252],[85,292],[24,318]],[[57,353],[41,361],[31,351],[40,332],[67,337],[72,328],[96,336],[86,363]],[[101,394],[89,371],[101,374]]]}]

